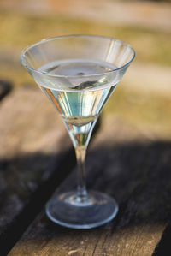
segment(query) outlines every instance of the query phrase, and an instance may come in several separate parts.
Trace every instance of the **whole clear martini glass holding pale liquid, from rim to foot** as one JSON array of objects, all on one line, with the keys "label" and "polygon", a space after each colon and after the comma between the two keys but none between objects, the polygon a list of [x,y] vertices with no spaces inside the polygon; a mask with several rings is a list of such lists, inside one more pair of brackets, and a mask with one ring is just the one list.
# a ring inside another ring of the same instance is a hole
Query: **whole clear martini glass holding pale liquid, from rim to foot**
[{"label": "whole clear martini glass holding pale liquid, from rim to foot", "polygon": [[21,52],[21,63],[62,116],[78,163],[77,191],[56,194],[46,205],[55,223],[91,229],[117,214],[115,199],[87,193],[85,154],[97,118],[134,56],[121,40],[90,35],[43,39]]}]

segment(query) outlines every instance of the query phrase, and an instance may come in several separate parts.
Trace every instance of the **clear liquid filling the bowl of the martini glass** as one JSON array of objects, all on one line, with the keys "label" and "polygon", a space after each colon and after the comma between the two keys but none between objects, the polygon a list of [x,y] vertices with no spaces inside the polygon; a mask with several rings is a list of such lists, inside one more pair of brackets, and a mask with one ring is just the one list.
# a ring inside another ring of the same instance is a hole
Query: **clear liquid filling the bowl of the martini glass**
[{"label": "clear liquid filling the bowl of the martini glass", "polygon": [[[49,63],[39,68],[44,74],[77,77],[53,77],[42,75],[42,90],[55,105],[68,128],[74,146],[87,146],[97,117],[115,89],[109,83],[106,72],[115,69],[109,63],[88,60],[65,60]],[[101,74],[97,76],[91,74]],[[85,78],[85,75],[90,75]]]}]

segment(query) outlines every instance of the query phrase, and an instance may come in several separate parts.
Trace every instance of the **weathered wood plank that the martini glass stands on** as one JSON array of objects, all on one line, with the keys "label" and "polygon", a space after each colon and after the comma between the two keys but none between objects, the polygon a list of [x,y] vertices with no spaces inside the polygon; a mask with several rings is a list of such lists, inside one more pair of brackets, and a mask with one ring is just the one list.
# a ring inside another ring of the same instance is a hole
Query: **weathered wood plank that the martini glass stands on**
[{"label": "weathered wood plank that the martini glass stands on", "polygon": [[[150,256],[171,212],[171,143],[149,138],[103,116],[87,157],[88,188],[115,196],[118,216],[98,229],[72,230],[50,223],[43,211],[9,256]],[[71,188],[75,172],[58,192]]]}]

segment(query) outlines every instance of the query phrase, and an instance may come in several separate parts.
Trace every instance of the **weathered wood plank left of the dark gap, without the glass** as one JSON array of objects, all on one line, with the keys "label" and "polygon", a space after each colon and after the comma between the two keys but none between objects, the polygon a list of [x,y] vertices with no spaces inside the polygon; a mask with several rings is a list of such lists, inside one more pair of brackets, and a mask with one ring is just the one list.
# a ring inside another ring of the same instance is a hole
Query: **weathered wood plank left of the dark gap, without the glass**
[{"label": "weathered wood plank left of the dark gap, without the glass", "polygon": [[[1,255],[3,241],[9,247],[14,244],[44,199],[67,175],[67,165],[64,170],[60,165],[70,147],[60,116],[38,89],[24,87],[1,102]],[[73,165],[72,161],[68,164]]]}]

